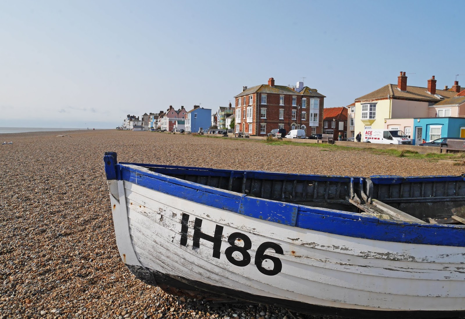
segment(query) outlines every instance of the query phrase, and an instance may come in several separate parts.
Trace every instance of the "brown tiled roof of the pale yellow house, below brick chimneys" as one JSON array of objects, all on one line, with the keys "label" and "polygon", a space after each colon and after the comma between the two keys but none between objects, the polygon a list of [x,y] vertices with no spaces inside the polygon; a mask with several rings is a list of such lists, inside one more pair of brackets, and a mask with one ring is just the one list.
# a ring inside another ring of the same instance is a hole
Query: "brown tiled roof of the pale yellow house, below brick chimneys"
[{"label": "brown tiled roof of the pale yellow house, below brick chimneys", "polygon": [[455,94],[456,93],[452,91],[436,89],[436,95],[432,95],[428,92],[428,89],[425,87],[409,85],[407,85],[406,91],[400,91],[396,84],[388,84],[379,88],[378,90],[372,91],[359,98],[356,98],[355,101],[372,100],[375,98],[387,98],[388,95],[390,97],[407,98],[420,101],[440,101],[442,100],[442,98],[439,98],[437,95],[440,95],[443,98],[452,98],[453,96],[455,96]]}]

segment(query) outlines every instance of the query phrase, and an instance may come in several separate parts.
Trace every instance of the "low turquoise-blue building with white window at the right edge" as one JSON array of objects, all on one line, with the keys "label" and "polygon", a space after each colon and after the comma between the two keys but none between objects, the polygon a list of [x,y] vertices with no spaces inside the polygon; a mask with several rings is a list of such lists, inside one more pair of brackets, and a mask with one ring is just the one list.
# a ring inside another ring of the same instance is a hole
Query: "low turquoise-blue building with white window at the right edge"
[{"label": "low turquoise-blue building with white window at the right edge", "polygon": [[[465,136],[464,117],[418,117],[413,118],[414,138],[412,142],[425,139],[426,142],[434,141],[441,137]],[[421,143],[421,142],[420,142]]]}]

